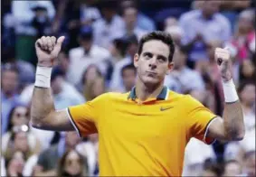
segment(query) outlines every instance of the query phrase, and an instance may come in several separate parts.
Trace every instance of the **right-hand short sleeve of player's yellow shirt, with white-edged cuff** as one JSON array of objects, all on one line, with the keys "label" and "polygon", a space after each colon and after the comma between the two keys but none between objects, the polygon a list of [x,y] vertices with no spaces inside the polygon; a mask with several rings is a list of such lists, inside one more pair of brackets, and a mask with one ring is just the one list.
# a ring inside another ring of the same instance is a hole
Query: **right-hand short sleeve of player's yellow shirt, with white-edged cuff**
[{"label": "right-hand short sleeve of player's yellow shirt, with white-edged cuff", "polygon": [[186,126],[190,137],[195,137],[205,144],[212,144],[214,139],[207,137],[208,127],[218,117],[202,103],[191,96],[186,96],[187,117]]}]

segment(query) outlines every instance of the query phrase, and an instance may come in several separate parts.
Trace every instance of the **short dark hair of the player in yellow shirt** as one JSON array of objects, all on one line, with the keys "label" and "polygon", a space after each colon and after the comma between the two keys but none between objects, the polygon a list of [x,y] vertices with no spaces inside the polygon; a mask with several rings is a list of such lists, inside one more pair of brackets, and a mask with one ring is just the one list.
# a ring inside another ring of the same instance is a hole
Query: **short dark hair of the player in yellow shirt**
[{"label": "short dark hair of the player in yellow shirt", "polygon": [[168,56],[168,61],[173,61],[173,56],[175,53],[175,44],[173,42],[172,36],[169,33],[161,32],[161,31],[155,31],[151,33],[145,34],[138,43],[138,51],[137,53],[140,55],[142,52],[142,48],[145,42],[149,42],[151,40],[158,40],[161,42],[166,43],[169,47],[170,54]]}]

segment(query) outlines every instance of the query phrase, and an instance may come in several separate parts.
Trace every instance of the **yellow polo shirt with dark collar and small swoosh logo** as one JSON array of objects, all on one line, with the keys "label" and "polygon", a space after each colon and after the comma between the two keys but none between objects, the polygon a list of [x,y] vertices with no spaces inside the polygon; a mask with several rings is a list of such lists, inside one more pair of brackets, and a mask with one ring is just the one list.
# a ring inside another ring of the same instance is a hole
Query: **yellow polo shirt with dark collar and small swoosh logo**
[{"label": "yellow polo shirt with dark collar and small swoosh logo", "polygon": [[137,102],[129,93],[106,93],[69,107],[81,136],[99,133],[100,176],[181,176],[191,137],[207,144],[206,127],[216,117],[190,96],[166,87],[157,98]]}]

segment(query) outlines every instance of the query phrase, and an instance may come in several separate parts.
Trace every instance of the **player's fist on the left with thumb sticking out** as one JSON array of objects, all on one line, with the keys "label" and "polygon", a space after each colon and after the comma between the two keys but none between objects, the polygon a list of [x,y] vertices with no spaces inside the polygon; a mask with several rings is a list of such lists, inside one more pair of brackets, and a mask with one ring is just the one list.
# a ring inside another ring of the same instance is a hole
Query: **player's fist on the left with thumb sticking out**
[{"label": "player's fist on the left with thumb sticking out", "polygon": [[38,58],[38,65],[52,67],[53,61],[58,57],[65,37],[59,37],[56,42],[54,36],[43,36],[35,42],[35,51]]}]

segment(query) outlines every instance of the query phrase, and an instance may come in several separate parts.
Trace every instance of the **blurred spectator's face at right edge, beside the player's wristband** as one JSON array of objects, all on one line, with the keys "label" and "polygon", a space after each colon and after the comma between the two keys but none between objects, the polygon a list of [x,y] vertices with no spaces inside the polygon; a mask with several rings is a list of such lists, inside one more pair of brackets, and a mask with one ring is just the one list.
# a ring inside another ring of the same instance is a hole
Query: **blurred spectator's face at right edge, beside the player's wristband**
[{"label": "blurred spectator's face at right edge, beside the player's wristband", "polygon": [[242,102],[247,105],[253,105],[255,101],[255,86],[252,84],[246,85],[241,92]]}]

